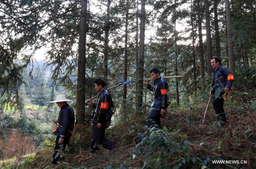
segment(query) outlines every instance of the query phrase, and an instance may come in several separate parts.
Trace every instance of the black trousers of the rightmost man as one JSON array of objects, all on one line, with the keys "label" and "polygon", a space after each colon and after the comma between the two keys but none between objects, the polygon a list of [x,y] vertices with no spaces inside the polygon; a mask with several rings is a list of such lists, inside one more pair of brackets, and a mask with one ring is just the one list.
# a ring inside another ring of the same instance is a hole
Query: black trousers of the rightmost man
[{"label": "black trousers of the rightmost man", "polygon": [[[212,101],[212,105],[213,105],[213,108],[215,110],[215,113],[218,114],[219,118],[221,118],[221,120],[223,122],[226,122],[226,116],[225,116],[225,111],[223,109],[223,105],[224,105],[224,99],[222,97],[222,95],[224,94],[224,92],[220,92],[220,95],[217,99],[213,99]],[[220,114],[222,113],[222,114]]]}]

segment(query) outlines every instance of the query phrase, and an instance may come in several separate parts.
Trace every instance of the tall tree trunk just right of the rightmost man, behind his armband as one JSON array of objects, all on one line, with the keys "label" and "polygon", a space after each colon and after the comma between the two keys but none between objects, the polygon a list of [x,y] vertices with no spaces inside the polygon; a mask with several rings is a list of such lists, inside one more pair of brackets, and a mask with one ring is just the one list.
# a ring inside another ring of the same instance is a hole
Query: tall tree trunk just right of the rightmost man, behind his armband
[{"label": "tall tree trunk just right of the rightmost man, behind his armband", "polygon": [[[230,18],[230,4],[229,0],[225,0],[226,3],[226,19],[227,19],[227,30],[228,30],[228,57],[230,72],[235,74],[234,67],[234,54],[233,54],[233,41],[232,41],[232,30],[231,30],[231,18]],[[232,84],[232,88],[235,86],[235,82]]]}]

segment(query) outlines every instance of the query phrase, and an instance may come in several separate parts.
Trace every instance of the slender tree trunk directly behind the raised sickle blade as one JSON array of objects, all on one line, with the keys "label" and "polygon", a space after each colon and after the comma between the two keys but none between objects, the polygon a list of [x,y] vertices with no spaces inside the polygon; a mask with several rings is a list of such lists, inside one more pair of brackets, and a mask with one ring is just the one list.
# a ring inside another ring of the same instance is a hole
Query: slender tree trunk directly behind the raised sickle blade
[{"label": "slender tree trunk directly behind the raised sickle blade", "polygon": [[[129,12],[129,3],[128,0],[126,0],[126,14],[125,14],[125,51],[124,51],[124,70],[123,70],[123,81],[126,82],[127,81],[127,39],[128,39],[128,12]],[[124,102],[126,103],[126,99],[127,99],[127,85],[123,85],[123,99]]]}]

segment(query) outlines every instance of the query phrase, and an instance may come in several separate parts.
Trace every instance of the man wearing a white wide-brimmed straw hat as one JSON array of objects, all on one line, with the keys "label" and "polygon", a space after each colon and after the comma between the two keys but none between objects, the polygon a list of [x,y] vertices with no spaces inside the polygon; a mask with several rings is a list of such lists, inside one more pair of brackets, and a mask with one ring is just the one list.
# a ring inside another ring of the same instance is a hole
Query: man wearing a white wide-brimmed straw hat
[{"label": "man wearing a white wide-brimmed straw hat", "polygon": [[54,132],[56,135],[54,154],[52,164],[57,164],[59,161],[59,157],[55,158],[57,153],[59,152],[59,147],[63,144],[63,150],[66,148],[67,143],[69,142],[69,137],[71,135],[71,131],[75,124],[75,115],[73,108],[67,104],[67,101],[71,101],[66,99],[65,95],[58,95],[55,101],[51,101],[50,103],[57,103],[58,107],[61,109],[59,111],[58,120],[53,119],[52,121],[55,124],[59,124],[59,127]]}]

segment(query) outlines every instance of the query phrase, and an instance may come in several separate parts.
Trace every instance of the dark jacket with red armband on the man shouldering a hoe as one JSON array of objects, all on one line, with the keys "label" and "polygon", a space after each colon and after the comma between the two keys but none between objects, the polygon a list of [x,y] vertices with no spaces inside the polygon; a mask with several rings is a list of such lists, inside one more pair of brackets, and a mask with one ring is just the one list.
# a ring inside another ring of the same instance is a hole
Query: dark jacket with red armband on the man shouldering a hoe
[{"label": "dark jacket with red armband on the man shouldering a hoe", "polygon": [[147,88],[153,91],[152,104],[149,110],[161,110],[167,107],[168,84],[161,76],[154,80],[154,87],[150,84]]}]

